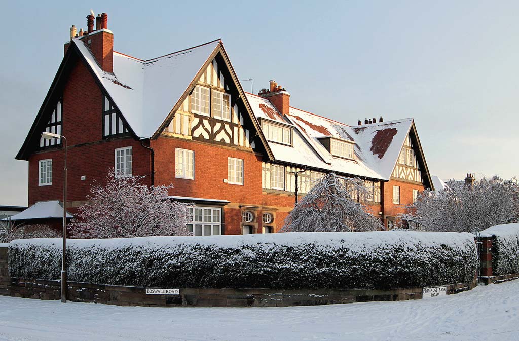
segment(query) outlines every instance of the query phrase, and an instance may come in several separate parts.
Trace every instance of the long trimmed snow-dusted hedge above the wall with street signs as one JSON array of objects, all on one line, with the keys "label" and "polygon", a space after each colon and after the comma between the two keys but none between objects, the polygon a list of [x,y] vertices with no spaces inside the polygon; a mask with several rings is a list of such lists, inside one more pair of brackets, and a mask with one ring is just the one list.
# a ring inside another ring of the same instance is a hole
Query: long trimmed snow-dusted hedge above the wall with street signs
[{"label": "long trimmed snow-dusted hedge above the wall with street signs", "polygon": [[[11,242],[12,277],[57,279],[61,240]],[[469,283],[474,236],[449,232],[278,233],[67,241],[68,278],[162,288],[378,289]]]}]

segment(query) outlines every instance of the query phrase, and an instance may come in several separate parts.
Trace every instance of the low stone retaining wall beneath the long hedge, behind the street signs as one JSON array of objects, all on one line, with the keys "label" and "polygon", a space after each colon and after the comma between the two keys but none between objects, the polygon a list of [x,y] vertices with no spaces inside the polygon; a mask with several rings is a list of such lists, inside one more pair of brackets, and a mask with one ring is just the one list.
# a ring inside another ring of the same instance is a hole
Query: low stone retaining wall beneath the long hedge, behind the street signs
[{"label": "low stone retaining wall beneath the long hedge, behind the street signs", "polygon": [[[179,295],[147,295],[146,288],[118,285],[68,283],[67,298],[73,302],[93,302],[122,306],[149,307],[287,307],[370,301],[405,301],[422,298],[422,288],[389,291],[275,290],[229,288],[180,288]],[[470,284],[447,285],[447,294],[470,290]],[[60,281],[10,278],[8,295],[38,299],[60,299]]]}]

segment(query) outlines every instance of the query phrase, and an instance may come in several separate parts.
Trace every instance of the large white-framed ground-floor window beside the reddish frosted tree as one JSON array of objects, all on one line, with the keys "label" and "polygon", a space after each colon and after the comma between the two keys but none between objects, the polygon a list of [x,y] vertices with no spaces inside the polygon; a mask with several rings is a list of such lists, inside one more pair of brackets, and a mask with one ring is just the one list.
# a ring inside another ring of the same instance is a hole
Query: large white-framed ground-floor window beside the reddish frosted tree
[{"label": "large white-framed ground-floor window beside the reddish frosted tree", "polygon": [[186,225],[195,236],[214,236],[222,234],[222,209],[215,207],[190,207],[192,222]]}]

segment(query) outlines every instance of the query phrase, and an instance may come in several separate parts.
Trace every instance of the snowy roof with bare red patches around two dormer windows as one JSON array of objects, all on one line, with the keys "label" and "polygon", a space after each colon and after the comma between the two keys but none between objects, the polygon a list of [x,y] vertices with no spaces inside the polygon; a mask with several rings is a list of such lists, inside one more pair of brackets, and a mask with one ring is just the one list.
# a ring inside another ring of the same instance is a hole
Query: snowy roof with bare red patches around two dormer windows
[{"label": "snowy roof with bare red patches around two dormer windows", "polygon": [[[371,179],[389,180],[413,118],[351,127],[294,107],[284,117],[266,98],[247,93],[254,115],[293,124],[293,146],[268,142],[276,160]],[[334,137],[352,141],[354,160],[335,157],[319,141]]]}]

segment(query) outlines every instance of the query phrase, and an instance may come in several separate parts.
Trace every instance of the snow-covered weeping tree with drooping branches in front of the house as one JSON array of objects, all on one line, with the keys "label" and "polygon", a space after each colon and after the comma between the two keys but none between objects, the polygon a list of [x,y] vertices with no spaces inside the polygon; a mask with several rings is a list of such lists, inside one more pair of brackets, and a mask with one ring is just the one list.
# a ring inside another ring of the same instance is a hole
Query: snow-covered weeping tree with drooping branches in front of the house
[{"label": "snow-covered weeping tree with drooping branches in front of the house", "polygon": [[367,189],[359,178],[327,174],[297,203],[285,219],[281,232],[373,231],[382,228],[359,198]]}]

